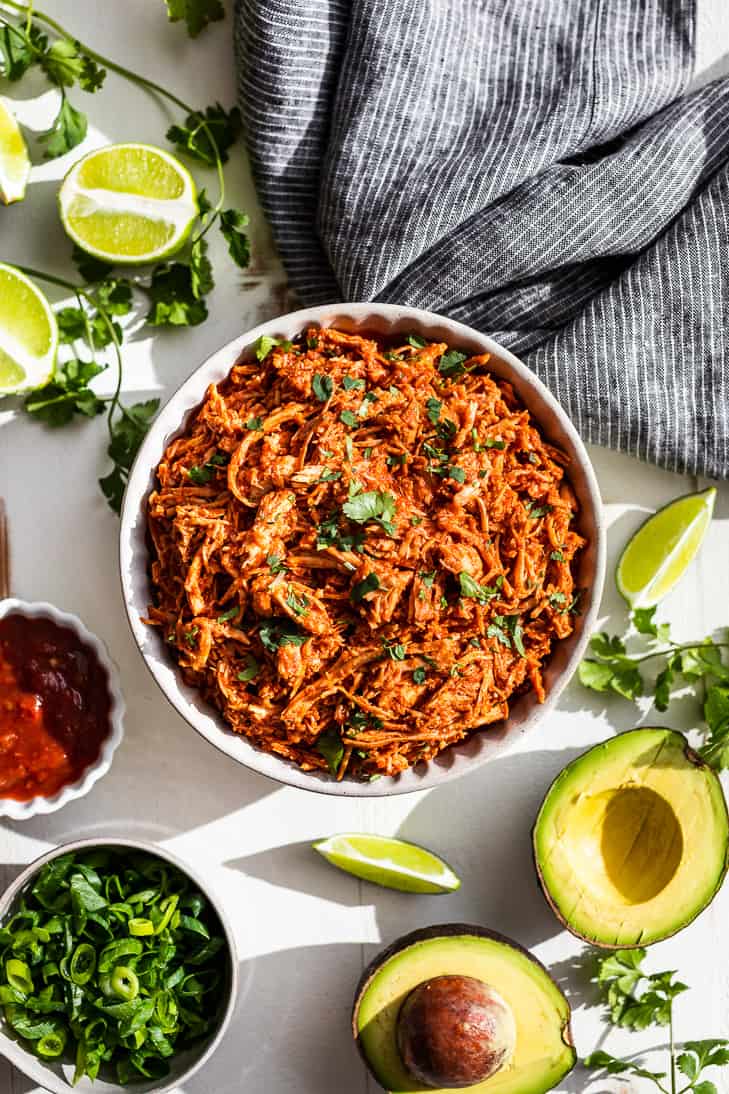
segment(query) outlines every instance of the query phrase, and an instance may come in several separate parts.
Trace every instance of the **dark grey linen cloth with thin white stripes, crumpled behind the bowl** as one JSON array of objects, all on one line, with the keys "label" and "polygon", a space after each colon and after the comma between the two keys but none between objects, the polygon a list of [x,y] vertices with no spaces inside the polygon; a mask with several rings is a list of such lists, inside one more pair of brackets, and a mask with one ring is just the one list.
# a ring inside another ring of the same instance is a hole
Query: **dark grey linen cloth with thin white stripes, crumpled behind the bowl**
[{"label": "dark grey linen cloth with thin white stripes, crumpled behind the bowl", "polygon": [[586,440],[729,477],[729,80],[694,0],[239,0],[258,193],[308,304],[494,335]]}]

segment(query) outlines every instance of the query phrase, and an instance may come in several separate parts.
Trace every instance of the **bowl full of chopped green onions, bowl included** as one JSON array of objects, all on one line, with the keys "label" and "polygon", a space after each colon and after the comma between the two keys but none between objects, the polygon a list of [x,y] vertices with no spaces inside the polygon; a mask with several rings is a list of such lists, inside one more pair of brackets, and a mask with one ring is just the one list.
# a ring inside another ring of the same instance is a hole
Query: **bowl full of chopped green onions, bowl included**
[{"label": "bowl full of chopped green onions, bowl included", "polygon": [[236,992],[220,905],[153,845],[62,845],[0,897],[0,1052],[53,1094],[172,1090],[219,1045]]}]

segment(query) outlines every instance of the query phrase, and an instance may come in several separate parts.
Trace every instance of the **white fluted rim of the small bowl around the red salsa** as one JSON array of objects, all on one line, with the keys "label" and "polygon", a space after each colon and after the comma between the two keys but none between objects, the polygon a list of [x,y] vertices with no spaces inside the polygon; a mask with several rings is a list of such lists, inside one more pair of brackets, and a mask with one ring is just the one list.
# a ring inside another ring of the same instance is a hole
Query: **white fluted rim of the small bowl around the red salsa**
[{"label": "white fluted rim of the small bowl around the red salsa", "polygon": [[108,650],[101,639],[96,638],[95,635],[92,635],[84,627],[78,616],[70,615],[68,612],[60,612],[53,604],[44,604],[43,602],[30,603],[27,601],[15,600],[13,596],[0,601],[0,619],[15,612],[31,618],[53,619],[59,627],[68,627],[69,630],[72,630],[83,644],[88,645],[96,654],[99,663],[106,672],[109,695],[108,735],[102,743],[96,760],[89,765],[76,782],[70,782],[68,785],[61,787],[58,793],[53,794],[50,798],[38,795],[27,802],[18,802],[12,798],[0,796],[0,816],[12,817],[13,821],[27,821],[28,817],[35,816],[37,813],[55,813],[56,810],[61,808],[67,802],[72,802],[76,798],[83,798],[84,794],[89,793],[93,784],[99,782],[102,776],[106,775],[112,766],[114,753],[120,745],[121,737],[124,736],[124,699],[121,698],[119,673],[109,656]]}]

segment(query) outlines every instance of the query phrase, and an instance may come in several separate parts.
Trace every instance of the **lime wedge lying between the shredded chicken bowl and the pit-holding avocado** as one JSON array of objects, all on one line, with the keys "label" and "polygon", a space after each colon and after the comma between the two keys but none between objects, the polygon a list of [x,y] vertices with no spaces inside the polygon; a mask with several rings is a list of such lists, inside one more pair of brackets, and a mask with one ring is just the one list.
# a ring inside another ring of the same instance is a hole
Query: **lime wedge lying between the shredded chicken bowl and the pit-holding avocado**
[{"label": "lime wedge lying between the shredded chicken bowl and the pit-holding avocado", "polygon": [[327,862],[355,877],[402,893],[453,893],[461,881],[432,851],[390,836],[343,833],[312,845]]}]

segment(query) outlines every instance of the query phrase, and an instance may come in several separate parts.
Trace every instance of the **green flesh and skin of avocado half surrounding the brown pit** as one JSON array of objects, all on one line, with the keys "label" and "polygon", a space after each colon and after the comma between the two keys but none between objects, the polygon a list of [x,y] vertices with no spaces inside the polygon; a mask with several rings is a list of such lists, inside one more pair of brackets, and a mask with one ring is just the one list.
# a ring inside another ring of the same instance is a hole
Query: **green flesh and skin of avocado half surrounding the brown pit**
[{"label": "green flesh and skin of avocado half surrounding the brown pit", "polygon": [[495,931],[447,923],[398,939],[357,986],[352,1033],[367,1067],[390,1094],[438,1090],[405,1068],[397,1036],[405,1000],[437,977],[481,980],[513,1014],[510,1058],[489,1079],[465,1087],[473,1094],[545,1094],[575,1067],[569,1004],[536,957]]}]

